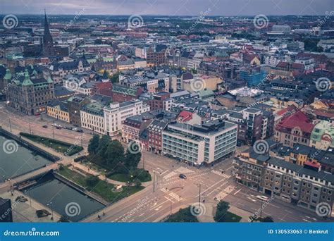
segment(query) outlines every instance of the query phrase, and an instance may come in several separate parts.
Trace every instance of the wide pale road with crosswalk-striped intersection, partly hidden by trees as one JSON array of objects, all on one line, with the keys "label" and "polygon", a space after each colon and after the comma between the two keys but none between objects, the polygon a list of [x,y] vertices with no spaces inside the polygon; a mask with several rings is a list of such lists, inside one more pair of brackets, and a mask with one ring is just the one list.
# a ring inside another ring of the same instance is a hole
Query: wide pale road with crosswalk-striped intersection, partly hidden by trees
[{"label": "wide pale road with crosswalk-striped intersection, partly hidden by trees", "polygon": [[[44,116],[43,120],[36,116],[25,116],[23,113],[8,109],[0,104],[0,116],[2,125],[7,130],[11,128],[16,134],[18,132],[29,132],[36,135],[53,137],[51,123],[53,119]],[[9,122],[9,118],[11,122]],[[61,123],[56,121],[56,123]],[[48,128],[42,128],[42,125]],[[63,123],[61,123],[63,125]],[[68,125],[68,124],[67,124]],[[89,130],[85,133],[72,130],[54,130],[54,136],[65,142],[75,142],[82,135],[82,144],[87,147],[92,135]],[[142,191],[131,195],[116,204],[104,209],[105,215],[101,222],[154,222],[168,214],[178,211],[181,207],[189,206],[205,200],[205,205],[216,205],[219,199],[229,202],[230,205],[254,214],[259,210],[262,202],[256,199],[259,192],[250,190],[247,187],[237,185],[231,174],[232,159],[218,163],[211,168],[196,168],[187,166],[185,163],[168,159],[165,156],[158,156],[150,152],[142,152],[144,163],[139,163],[140,168],[144,166],[152,176],[152,181]],[[48,168],[48,167],[47,167]],[[49,168],[54,168],[50,165]],[[225,173],[222,173],[225,171]],[[180,173],[187,175],[187,179],[181,179]],[[200,192],[199,192],[200,188]],[[263,216],[272,216],[276,222],[314,222],[324,221],[311,211],[287,204],[273,199],[262,212]],[[84,221],[97,221],[97,214],[85,218]]]}]

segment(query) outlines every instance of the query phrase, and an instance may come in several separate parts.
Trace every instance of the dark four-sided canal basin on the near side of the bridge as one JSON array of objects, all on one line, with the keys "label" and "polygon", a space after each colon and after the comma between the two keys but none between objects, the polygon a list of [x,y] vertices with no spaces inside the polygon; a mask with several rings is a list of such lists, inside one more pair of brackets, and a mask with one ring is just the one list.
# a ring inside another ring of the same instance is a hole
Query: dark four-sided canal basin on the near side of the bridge
[{"label": "dark four-sided canal basin on the near side of the bridge", "polygon": [[54,178],[52,174],[45,175],[37,180],[35,185],[22,191],[25,196],[31,196],[45,206],[49,204],[50,209],[52,206],[54,211],[61,216],[67,216],[70,221],[79,221],[105,207],[97,200]]}]

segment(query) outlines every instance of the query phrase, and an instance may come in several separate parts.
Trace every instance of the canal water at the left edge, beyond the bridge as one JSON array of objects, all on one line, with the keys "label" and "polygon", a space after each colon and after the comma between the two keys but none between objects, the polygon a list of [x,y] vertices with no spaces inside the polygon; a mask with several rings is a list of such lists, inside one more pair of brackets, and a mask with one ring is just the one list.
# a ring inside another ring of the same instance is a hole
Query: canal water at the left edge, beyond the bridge
[{"label": "canal water at the left edge, beyond the bridge", "polygon": [[43,156],[0,135],[0,183],[49,163]]}]

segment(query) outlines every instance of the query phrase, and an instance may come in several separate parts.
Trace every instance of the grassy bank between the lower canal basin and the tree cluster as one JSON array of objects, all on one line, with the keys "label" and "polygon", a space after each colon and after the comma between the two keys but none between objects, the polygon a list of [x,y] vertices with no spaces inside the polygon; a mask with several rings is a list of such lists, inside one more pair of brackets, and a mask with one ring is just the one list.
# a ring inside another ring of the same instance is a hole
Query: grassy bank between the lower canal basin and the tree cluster
[{"label": "grassy bank between the lower canal basin and the tree cluster", "polygon": [[90,175],[87,175],[87,177],[85,177],[84,175],[72,171],[67,167],[60,168],[58,173],[72,180],[74,183],[78,183],[82,187],[85,187],[87,190],[94,192],[95,194],[99,195],[100,197],[106,199],[108,202],[111,203],[117,202],[119,199],[122,199],[123,197],[128,197],[131,194],[134,194],[144,189],[144,187],[142,186],[141,187],[123,186],[122,192],[112,192],[111,190],[113,189],[113,187],[115,187],[115,185],[111,183],[106,183],[103,180],[99,180],[99,182],[96,185],[89,185],[87,183],[87,179],[89,178]]}]

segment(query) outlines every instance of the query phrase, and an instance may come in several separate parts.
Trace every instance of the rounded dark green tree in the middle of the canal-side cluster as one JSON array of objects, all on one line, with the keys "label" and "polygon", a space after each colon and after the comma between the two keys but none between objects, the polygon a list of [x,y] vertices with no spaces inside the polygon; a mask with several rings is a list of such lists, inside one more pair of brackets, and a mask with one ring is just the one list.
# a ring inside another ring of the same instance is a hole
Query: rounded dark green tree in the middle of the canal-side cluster
[{"label": "rounded dark green tree in the middle of the canal-side cluster", "polygon": [[120,163],[123,163],[124,160],[124,148],[118,140],[113,140],[109,143],[108,148],[106,149],[106,160],[107,162],[114,167],[114,171],[120,171]]}]

